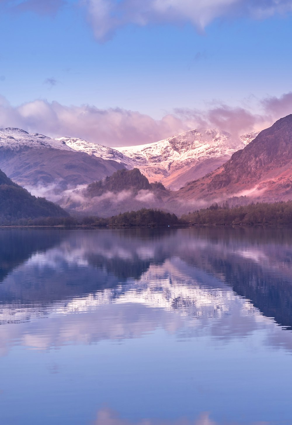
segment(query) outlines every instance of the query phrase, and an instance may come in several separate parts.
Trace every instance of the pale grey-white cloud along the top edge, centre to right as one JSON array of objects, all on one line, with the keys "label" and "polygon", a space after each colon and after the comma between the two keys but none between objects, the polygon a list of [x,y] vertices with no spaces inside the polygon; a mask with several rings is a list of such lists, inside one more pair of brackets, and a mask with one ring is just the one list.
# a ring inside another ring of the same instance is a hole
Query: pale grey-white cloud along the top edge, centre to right
[{"label": "pale grey-white cloud along the top edge, centre to right", "polygon": [[291,0],[80,0],[80,3],[87,9],[95,37],[101,41],[128,24],[191,23],[203,31],[216,18],[265,19],[292,11]]}]

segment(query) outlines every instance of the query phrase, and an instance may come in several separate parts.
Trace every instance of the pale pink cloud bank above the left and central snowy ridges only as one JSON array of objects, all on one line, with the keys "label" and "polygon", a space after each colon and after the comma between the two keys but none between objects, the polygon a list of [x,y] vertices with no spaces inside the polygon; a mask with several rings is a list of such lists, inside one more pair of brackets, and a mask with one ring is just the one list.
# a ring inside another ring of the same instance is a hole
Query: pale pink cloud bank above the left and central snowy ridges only
[{"label": "pale pink cloud bank above the left and central snowy ridges only", "polygon": [[0,98],[0,126],[20,127],[53,137],[81,137],[108,146],[157,142],[187,129],[174,115],[156,120],[122,108],[69,107],[46,100],[35,100],[14,108],[3,97]]}]

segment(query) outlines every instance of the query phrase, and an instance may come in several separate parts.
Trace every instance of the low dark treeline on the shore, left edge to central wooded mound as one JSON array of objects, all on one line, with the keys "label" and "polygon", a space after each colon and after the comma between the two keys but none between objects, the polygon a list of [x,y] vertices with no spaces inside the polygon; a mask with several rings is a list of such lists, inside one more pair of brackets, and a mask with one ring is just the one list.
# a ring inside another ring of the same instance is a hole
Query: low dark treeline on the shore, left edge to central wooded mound
[{"label": "low dark treeline on the shore, left edge to central wooded mound", "polygon": [[90,226],[90,227],[157,227],[178,226],[182,221],[175,214],[143,208],[139,211],[124,212],[109,218],[89,217],[39,217],[4,220],[3,226]]}]

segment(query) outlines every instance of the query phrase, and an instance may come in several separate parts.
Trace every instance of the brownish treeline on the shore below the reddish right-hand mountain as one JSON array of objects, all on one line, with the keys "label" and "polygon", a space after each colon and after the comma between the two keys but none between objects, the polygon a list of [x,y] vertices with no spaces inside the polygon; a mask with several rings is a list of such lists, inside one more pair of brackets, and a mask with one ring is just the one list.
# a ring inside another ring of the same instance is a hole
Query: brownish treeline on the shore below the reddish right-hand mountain
[{"label": "brownish treeline on the shore below the reddish right-hand mountain", "polygon": [[222,206],[215,203],[209,208],[183,215],[182,220],[193,225],[289,225],[292,224],[292,201],[257,202],[232,208],[227,202]]}]

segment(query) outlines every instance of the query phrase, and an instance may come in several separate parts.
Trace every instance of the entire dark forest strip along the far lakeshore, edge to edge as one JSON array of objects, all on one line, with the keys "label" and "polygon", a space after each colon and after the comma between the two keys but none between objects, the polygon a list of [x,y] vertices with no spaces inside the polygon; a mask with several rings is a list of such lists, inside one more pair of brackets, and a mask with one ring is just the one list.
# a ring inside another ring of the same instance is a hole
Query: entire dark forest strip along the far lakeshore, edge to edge
[{"label": "entire dark forest strip along the far lakeshore, edge to edge", "polygon": [[[36,198],[36,202],[43,202]],[[43,212],[43,211],[42,211]],[[73,217],[28,217],[1,218],[2,226],[87,226],[87,227],[159,227],[159,226],[273,226],[292,224],[292,201],[280,201],[273,204],[257,202],[230,208],[228,203],[222,206],[214,203],[208,208],[189,212],[178,218],[170,212],[142,208],[127,211],[108,218],[96,216]]]}]

